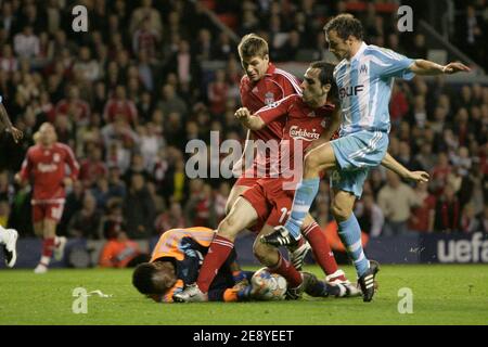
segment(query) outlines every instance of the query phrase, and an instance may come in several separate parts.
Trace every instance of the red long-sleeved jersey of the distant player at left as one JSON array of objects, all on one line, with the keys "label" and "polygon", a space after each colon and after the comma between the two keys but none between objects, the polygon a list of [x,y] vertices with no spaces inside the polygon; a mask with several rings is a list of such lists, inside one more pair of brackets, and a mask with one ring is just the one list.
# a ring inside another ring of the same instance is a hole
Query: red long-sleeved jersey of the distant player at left
[{"label": "red long-sleeved jersey of the distant player at left", "polygon": [[47,149],[39,144],[31,146],[22,164],[22,180],[30,180],[34,192],[33,201],[54,201],[64,198],[63,179],[66,177],[66,164],[69,177],[78,177],[79,165],[69,146],[56,142]]}]

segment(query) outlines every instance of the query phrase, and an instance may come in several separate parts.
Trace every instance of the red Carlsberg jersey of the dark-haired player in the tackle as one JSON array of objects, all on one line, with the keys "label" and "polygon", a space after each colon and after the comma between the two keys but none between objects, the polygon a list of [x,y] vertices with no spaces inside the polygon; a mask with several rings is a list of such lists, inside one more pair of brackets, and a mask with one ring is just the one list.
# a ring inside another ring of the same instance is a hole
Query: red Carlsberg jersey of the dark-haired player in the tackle
[{"label": "red Carlsberg jersey of the dark-haired player in the tackle", "polygon": [[[318,140],[328,127],[334,111],[333,104],[325,104],[318,108],[307,105],[301,95],[293,94],[269,106],[262,107],[256,113],[265,124],[277,119],[286,120],[283,128],[283,137],[280,146],[280,157],[272,160],[270,175],[283,175],[283,169],[294,169],[295,150],[301,150],[301,156],[297,158],[303,164],[303,155],[313,140]],[[290,160],[290,162],[285,162]]]}]

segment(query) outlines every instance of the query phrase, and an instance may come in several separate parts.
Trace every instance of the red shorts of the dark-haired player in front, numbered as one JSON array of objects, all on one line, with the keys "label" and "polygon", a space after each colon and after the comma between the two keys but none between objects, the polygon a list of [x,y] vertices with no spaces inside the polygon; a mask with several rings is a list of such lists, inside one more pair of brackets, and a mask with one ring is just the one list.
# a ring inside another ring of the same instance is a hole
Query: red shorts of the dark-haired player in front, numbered
[{"label": "red shorts of the dark-haired player in front, numbered", "polygon": [[242,194],[258,215],[253,231],[259,232],[265,224],[282,226],[288,218],[295,191],[283,190],[283,183],[280,178],[261,179]]}]

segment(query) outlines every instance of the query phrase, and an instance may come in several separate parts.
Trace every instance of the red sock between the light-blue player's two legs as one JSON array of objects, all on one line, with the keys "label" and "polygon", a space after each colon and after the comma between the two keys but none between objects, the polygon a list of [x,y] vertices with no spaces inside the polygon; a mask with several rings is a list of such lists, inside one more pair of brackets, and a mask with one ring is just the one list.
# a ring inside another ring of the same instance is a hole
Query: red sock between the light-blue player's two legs
[{"label": "red sock between the light-blue player's two legs", "polygon": [[311,223],[303,231],[305,237],[308,240],[312,247],[313,258],[320,265],[325,274],[332,274],[337,271],[337,262],[335,261],[334,254],[329,245],[325,233],[322,232],[317,222]]}]

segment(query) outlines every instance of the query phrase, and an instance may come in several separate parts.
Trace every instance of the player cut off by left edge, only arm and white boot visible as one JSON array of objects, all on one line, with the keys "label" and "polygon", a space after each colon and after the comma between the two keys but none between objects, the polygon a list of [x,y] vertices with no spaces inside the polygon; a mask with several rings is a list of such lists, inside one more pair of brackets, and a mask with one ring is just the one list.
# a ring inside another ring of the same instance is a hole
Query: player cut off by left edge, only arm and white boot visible
[{"label": "player cut off by left edge, only arm and white boot visible", "polygon": [[[2,130],[2,128],[4,128],[5,131],[12,134],[15,143],[18,143],[18,141],[24,136],[21,130],[12,126],[9,114],[7,113],[7,110],[2,104],[2,97],[0,95],[0,130]],[[17,237],[18,233],[15,229],[4,229],[2,226],[0,226],[0,245],[3,248],[5,265],[9,268],[13,268],[15,261],[17,260]]]}]

